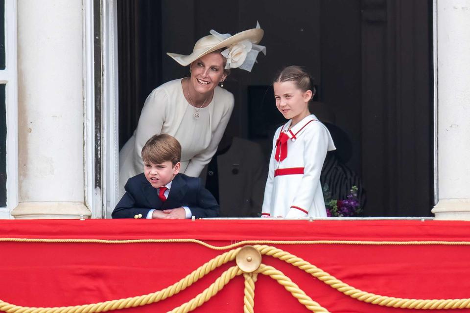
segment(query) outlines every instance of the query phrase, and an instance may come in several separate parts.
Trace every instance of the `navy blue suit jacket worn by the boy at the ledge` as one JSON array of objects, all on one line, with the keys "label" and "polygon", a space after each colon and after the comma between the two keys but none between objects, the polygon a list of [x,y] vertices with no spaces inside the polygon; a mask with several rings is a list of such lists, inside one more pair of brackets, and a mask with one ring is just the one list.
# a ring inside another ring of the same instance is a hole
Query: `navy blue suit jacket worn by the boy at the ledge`
[{"label": "navy blue suit jacket worn by the boy at the ledge", "polygon": [[113,211],[113,219],[129,219],[141,214],[146,218],[150,209],[166,210],[188,206],[195,218],[219,216],[219,205],[212,194],[204,188],[200,178],[177,174],[171,183],[166,201],[158,198],[157,189],[143,173],[131,177],[124,187],[126,193]]}]

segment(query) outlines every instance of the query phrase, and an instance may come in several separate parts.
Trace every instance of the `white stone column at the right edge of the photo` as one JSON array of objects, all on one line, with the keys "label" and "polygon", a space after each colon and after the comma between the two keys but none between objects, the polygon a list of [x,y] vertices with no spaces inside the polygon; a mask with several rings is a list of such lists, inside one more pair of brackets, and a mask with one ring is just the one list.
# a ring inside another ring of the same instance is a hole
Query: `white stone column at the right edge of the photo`
[{"label": "white stone column at the right edge of the photo", "polygon": [[470,0],[437,1],[439,220],[470,220]]}]

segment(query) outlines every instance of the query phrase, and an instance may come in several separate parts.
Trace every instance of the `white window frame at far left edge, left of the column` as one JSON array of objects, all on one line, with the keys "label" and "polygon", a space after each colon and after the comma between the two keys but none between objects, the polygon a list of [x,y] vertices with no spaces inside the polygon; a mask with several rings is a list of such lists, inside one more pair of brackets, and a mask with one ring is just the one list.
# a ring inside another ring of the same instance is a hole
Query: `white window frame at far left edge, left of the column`
[{"label": "white window frame at far left edge, left of the column", "polygon": [[0,207],[0,219],[11,219],[10,212],[18,206],[17,51],[17,3],[5,0],[5,69],[0,70],[0,84],[6,84],[6,207]]}]

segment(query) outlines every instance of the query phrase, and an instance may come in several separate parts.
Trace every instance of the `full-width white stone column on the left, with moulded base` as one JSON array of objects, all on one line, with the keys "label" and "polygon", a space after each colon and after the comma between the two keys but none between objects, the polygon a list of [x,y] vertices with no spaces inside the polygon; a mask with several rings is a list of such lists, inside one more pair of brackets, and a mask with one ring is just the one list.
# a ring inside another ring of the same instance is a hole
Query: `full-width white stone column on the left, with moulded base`
[{"label": "full-width white stone column on the left, with moulded base", "polygon": [[89,217],[81,0],[18,0],[19,200],[11,215]]}]

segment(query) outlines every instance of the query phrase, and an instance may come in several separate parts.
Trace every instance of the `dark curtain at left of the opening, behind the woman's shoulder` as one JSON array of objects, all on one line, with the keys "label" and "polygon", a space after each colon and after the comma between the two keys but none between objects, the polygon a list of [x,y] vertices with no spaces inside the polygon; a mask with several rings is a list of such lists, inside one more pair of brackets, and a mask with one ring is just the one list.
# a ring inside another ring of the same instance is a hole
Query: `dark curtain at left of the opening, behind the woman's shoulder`
[{"label": "dark curtain at left of the opening, behind the woman's shoulder", "polygon": [[119,149],[161,81],[162,13],[155,0],[118,0]]}]

